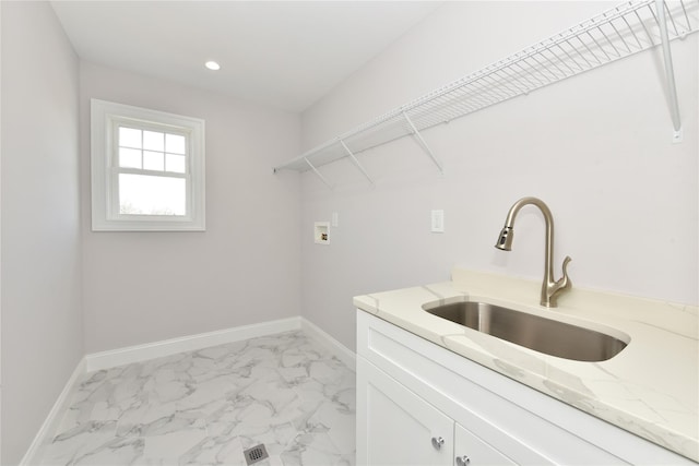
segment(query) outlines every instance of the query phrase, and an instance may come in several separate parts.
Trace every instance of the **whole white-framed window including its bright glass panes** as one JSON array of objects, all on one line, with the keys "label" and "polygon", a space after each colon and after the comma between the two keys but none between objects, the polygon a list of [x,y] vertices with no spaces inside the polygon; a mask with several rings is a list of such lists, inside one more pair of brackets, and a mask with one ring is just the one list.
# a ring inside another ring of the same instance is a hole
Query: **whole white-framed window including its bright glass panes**
[{"label": "whole white-framed window including its bright glass panes", "polygon": [[92,229],[204,230],[204,121],[92,99]]}]

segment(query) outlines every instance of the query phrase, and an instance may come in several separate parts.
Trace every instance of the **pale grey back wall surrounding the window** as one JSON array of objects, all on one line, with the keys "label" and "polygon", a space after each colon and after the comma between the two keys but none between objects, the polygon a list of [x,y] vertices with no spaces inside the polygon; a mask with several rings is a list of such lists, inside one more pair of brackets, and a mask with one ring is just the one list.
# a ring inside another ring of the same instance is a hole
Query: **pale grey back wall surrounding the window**
[{"label": "pale grey back wall surrounding the window", "polygon": [[[90,98],[205,120],[205,232],[91,231]],[[300,314],[297,115],[83,62],[81,129],[86,353]]]}]

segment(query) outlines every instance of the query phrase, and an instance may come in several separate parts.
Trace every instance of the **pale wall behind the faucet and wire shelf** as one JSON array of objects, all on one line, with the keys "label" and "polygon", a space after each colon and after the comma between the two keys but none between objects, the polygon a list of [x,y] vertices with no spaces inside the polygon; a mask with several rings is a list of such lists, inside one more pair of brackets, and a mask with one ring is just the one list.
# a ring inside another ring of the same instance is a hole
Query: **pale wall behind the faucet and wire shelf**
[{"label": "pale wall behind the faucet and wire shelf", "polygon": [[[612,3],[614,4],[614,3]],[[448,2],[303,115],[311,148],[389,109],[590,17],[600,2]],[[548,203],[556,276],[573,286],[697,303],[697,35],[673,43],[684,143],[673,145],[659,50],[426,131],[440,178],[411,140],[303,175],[305,316],[354,347],[352,296],[449,278],[454,264],[541,279],[544,225],[534,207],[512,252],[493,246],[511,204]],[[443,208],[446,232],[429,232]],[[313,220],[340,225],[330,246]],[[536,303],[538,296],[532,297]]]}]

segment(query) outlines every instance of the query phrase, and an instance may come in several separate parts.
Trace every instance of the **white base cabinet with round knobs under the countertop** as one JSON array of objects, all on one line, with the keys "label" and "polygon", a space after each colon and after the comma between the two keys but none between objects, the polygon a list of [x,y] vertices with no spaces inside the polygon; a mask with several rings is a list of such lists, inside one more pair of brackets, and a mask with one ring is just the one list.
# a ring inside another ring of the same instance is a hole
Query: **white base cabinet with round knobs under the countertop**
[{"label": "white base cabinet with round knobs under the countertop", "polygon": [[357,464],[466,463],[696,465],[358,311]]}]

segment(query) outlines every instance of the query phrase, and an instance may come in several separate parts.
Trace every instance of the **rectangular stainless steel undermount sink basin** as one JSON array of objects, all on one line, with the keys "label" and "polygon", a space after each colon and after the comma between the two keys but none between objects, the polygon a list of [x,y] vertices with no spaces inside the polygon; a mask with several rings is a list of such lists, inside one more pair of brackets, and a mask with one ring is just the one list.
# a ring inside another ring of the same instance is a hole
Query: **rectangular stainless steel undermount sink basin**
[{"label": "rectangular stainless steel undermount sink basin", "polygon": [[485,302],[457,302],[425,311],[535,351],[577,361],[605,361],[626,348],[629,340]]}]

